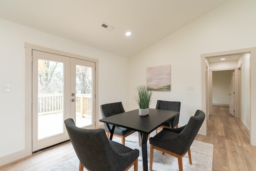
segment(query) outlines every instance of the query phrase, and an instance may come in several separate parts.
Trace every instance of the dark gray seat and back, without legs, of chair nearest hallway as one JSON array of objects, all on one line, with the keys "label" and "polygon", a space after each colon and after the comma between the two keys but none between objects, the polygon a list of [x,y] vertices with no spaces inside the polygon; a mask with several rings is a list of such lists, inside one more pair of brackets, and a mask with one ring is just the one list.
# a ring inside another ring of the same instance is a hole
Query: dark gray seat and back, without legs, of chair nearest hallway
[{"label": "dark gray seat and back, without legs, of chair nearest hallway", "polygon": [[178,155],[183,155],[188,151],[196,138],[204,118],[204,112],[197,110],[196,114],[190,117],[188,124],[175,129],[164,128],[156,136],[151,137],[149,143]]}]

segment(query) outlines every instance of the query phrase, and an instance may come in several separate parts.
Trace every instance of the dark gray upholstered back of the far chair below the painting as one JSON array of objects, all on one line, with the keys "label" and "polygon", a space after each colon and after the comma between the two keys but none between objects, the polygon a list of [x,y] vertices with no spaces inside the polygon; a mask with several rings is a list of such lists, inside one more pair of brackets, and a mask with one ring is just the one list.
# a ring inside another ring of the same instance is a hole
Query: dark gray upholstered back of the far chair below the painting
[{"label": "dark gray upholstered back of the far chair below the painting", "polygon": [[[171,102],[171,101],[164,101],[164,100],[157,100],[156,109],[161,110],[172,110],[176,112],[180,112],[180,102]],[[179,123],[180,114],[174,117],[173,119],[173,126]]]}]

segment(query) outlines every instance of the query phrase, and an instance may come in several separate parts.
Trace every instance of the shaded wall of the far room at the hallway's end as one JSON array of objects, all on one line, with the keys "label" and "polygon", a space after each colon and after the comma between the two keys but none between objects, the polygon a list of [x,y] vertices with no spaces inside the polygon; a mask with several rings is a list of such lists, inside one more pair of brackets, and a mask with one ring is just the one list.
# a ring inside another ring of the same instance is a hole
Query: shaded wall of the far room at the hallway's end
[{"label": "shaded wall of the far room at the hallway's end", "polygon": [[227,105],[230,102],[230,70],[212,72],[212,103]]}]

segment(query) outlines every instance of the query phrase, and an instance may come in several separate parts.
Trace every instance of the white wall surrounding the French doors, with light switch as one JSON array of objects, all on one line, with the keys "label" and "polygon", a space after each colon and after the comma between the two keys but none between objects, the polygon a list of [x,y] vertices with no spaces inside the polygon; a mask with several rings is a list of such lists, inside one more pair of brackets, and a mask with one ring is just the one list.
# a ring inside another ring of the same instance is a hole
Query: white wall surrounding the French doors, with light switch
[{"label": "white wall surrounding the French doors, with light switch", "polygon": [[[6,155],[23,150],[25,145],[25,42],[98,59],[98,103],[122,101],[128,108],[127,58],[2,19],[0,37],[0,165]],[[10,92],[2,91],[4,84],[10,85]]]}]

